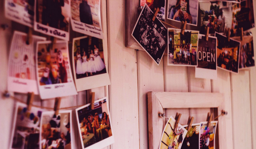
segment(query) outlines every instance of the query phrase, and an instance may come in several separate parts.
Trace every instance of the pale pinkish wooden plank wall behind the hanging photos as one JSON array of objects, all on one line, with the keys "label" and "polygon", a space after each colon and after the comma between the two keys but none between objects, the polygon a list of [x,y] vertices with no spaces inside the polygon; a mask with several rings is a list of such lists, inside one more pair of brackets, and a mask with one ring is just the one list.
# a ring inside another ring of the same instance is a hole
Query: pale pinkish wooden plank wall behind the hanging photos
[{"label": "pale pinkish wooden plank wall behind the hanging photos", "polygon": [[[3,0],[0,0],[0,24],[7,23],[9,28],[0,29],[0,92],[6,90],[7,63],[10,40],[13,30],[18,29],[3,17]],[[112,118],[115,143],[106,148],[111,149],[147,149],[148,148],[148,115],[147,92],[221,92],[225,95],[225,111],[228,115],[226,127],[230,134],[226,138],[227,149],[256,149],[256,68],[232,74],[218,69],[218,80],[195,78],[195,68],[167,66],[165,55],[159,66],[144,51],[125,47],[126,38],[126,1],[102,0],[102,24],[105,40],[108,44],[108,72],[111,85],[97,89],[96,99],[108,96]],[[254,3],[254,8],[256,4]],[[105,13],[107,12],[107,13]],[[254,14],[256,14],[254,12]],[[256,29],[252,29],[256,39]],[[71,32],[71,37],[81,34]],[[256,44],[254,44],[256,49]],[[71,50],[71,49],[70,49]],[[254,50],[256,51],[256,50]],[[26,95],[15,94],[26,100]],[[9,146],[13,121],[14,101],[0,97],[0,144],[1,148]],[[37,97],[34,104],[53,106],[53,100],[41,101]],[[85,104],[86,91],[77,96],[65,97],[61,107]],[[182,114],[181,123],[187,122],[188,115],[195,117],[194,123],[206,120],[210,109],[166,109],[166,117]],[[77,134],[76,134],[77,135]],[[74,136],[77,137],[77,136]],[[80,142],[74,143],[75,148]],[[79,147],[78,147],[79,146]]]}]

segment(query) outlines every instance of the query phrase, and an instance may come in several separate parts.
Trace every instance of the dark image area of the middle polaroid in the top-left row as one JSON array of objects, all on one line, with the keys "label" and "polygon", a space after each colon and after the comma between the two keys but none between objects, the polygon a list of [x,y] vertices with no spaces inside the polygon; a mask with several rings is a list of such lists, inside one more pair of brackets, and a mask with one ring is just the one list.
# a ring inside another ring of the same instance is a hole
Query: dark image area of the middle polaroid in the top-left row
[{"label": "dark image area of the middle polaroid in the top-left row", "polygon": [[69,31],[69,0],[36,0],[36,22]]}]

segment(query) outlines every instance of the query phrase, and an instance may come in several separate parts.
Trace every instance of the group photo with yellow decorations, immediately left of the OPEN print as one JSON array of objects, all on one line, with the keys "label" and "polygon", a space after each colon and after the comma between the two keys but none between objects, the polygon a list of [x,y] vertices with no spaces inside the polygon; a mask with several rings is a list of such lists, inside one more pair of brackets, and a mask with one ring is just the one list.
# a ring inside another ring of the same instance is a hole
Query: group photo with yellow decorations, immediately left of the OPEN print
[{"label": "group photo with yellow decorations, immediately left of the OPEN print", "polygon": [[197,66],[198,33],[168,28],[168,66]]}]

